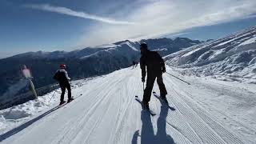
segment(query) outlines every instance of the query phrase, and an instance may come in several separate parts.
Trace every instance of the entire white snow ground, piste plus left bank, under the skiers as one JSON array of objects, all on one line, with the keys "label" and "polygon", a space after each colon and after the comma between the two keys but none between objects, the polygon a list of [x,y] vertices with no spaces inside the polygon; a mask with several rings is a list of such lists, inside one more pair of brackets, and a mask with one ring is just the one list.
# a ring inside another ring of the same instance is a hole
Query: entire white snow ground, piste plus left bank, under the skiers
[{"label": "entire white snow ground, piste plus left bank, under the skiers", "polygon": [[[74,101],[57,108],[60,90],[0,111],[3,144],[255,143],[255,85],[198,78],[166,70],[169,110],[153,95],[154,117],[142,98],[139,66],[72,83]],[[159,93],[154,84],[154,91]],[[82,94],[82,95],[81,95]],[[50,101],[50,98],[52,97]],[[65,96],[66,98],[66,96]]]}]

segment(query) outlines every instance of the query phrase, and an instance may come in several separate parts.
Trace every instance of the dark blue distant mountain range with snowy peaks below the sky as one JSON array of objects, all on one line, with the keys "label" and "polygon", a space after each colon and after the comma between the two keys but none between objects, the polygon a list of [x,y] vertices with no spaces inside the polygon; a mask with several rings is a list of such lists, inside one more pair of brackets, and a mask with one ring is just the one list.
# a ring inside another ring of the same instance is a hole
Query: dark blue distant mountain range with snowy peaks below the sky
[{"label": "dark blue distant mountain range with snowy peaks below the sky", "polygon": [[[192,41],[188,38],[175,38],[174,40],[158,38],[142,40],[142,42],[147,42],[150,50],[158,50],[162,55],[171,54],[199,43],[199,41]],[[0,108],[1,102],[9,102],[14,95],[18,96],[17,94],[28,90],[28,88],[21,88],[13,91],[11,87],[21,86],[19,83],[26,82],[21,80],[23,65],[26,65],[32,72],[34,86],[38,88],[54,83],[52,77],[61,63],[66,64],[67,71],[73,79],[107,74],[130,66],[133,61],[138,61],[140,58],[139,43],[126,40],[70,52],[38,51],[1,59],[0,65],[3,69],[0,70],[0,86],[2,88],[0,89]],[[24,86],[27,85],[24,84]],[[2,98],[2,96],[5,96],[5,98]]]}]

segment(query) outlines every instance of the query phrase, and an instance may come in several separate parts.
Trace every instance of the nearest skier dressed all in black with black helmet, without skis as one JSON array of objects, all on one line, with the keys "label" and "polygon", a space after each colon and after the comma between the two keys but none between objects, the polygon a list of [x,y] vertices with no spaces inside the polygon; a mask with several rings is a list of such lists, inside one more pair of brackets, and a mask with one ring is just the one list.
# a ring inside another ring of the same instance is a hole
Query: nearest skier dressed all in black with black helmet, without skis
[{"label": "nearest skier dressed all in black with black helmet, without skis", "polygon": [[160,89],[160,96],[162,100],[168,103],[166,99],[166,86],[162,81],[162,73],[166,72],[165,62],[158,54],[158,52],[148,50],[145,42],[140,45],[140,48],[142,54],[142,57],[140,59],[140,65],[142,69],[142,82],[145,82],[145,77],[147,73],[146,89],[144,90],[142,100],[145,108],[149,109],[149,102],[155,78],[157,78],[158,86]]}]

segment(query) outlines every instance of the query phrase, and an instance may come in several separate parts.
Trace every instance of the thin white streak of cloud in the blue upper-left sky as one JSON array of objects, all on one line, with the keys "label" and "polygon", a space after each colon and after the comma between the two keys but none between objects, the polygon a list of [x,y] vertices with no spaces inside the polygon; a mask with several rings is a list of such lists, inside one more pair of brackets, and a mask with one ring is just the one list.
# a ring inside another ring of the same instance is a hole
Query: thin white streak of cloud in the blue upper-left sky
[{"label": "thin white streak of cloud in the blue upper-left sky", "polygon": [[37,9],[37,10],[46,10],[46,11],[55,12],[59,14],[66,14],[66,15],[79,17],[79,18],[92,19],[98,22],[106,22],[114,25],[134,25],[134,22],[118,21],[114,18],[104,18],[94,14],[87,14],[82,11],[70,10],[69,8],[66,8],[66,7],[50,6],[49,4],[40,4],[40,5],[30,4],[30,5],[25,5],[25,7]]}]

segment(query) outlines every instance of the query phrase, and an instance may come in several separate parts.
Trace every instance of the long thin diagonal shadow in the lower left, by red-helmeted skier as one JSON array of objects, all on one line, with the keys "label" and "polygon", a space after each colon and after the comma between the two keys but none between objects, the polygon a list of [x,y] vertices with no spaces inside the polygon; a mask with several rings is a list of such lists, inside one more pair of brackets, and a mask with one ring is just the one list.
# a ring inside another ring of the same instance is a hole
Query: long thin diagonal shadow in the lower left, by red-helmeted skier
[{"label": "long thin diagonal shadow in the lower left, by red-helmeted skier", "polygon": [[[66,103],[65,103],[64,105],[66,105]],[[62,106],[64,106],[64,105],[62,105]],[[33,118],[33,119],[31,119],[30,121],[23,123],[21,126],[18,126],[18,127],[16,127],[16,128],[14,128],[13,130],[9,130],[9,131],[7,131],[5,134],[1,134],[1,135],[0,135],[0,142],[2,142],[2,141],[5,140],[6,138],[9,138],[10,136],[12,136],[12,135],[14,135],[14,134],[17,134],[18,132],[20,132],[20,131],[26,129],[26,127],[32,125],[34,122],[37,122],[39,119],[44,118],[46,115],[52,113],[53,111],[58,110],[58,108],[60,108],[60,107],[61,107],[61,106],[55,106],[54,108],[52,108],[52,109],[46,111],[44,114],[41,114],[41,115],[39,115],[38,117]]]}]

